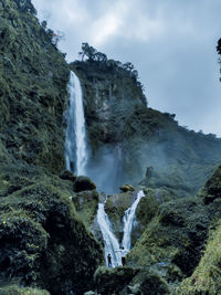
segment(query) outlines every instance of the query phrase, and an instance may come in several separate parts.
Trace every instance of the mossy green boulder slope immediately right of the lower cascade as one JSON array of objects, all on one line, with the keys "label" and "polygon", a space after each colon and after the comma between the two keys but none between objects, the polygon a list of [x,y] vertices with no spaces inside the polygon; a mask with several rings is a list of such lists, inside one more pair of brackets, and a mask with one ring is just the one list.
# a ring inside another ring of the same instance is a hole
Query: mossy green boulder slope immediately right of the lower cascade
[{"label": "mossy green boulder slope immediately right of the lower cascade", "polygon": [[200,261],[208,228],[207,212],[198,199],[162,203],[127,261],[147,266],[167,261],[191,274]]}]

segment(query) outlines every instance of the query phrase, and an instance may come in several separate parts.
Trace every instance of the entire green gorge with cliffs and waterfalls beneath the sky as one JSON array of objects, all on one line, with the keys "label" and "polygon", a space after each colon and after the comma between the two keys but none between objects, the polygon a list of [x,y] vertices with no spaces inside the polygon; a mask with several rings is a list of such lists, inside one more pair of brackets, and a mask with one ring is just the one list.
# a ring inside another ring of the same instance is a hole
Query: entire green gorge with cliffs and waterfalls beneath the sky
[{"label": "entire green gorge with cliffs and waterfalls beneath the sky", "polygon": [[69,64],[31,1],[0,0],[0,294],[219,294],[221,139],[127,63]]}]

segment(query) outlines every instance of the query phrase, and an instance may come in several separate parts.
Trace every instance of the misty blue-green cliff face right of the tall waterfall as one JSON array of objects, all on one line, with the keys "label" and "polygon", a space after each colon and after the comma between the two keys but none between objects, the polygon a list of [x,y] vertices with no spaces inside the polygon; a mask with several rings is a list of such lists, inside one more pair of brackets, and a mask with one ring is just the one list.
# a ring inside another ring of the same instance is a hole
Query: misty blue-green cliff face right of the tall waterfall
[{"label": "misty blue-green cliff face right of the tall waterfall", "polygon": [[187,130],[175,115],[148,108],[139,85],[117,64],[87,60],[71,67],[83,88],[95,182],[116,192],[119,185],[144,179],[151,188],[196,193],[220,162],[221,139]]}]

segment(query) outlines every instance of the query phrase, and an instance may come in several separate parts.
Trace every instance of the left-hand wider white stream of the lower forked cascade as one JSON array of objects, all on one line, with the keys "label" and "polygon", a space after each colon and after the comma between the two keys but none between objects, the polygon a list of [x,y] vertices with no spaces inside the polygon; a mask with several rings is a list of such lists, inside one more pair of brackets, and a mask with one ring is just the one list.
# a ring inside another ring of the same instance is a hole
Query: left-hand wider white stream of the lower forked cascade
[{"label": "left-hand wider white stream of the lower forked cascade", "polygon": [[[104,210],[104,203],[98,204],[97,211],[97,222],[99,224],[103,239],[104,239],[104,250],[105,250],[105,260],[106,265],[107,263],[107,255],[110,254],[112,256],[112,266],[122,265],[122,257],[119,253],[119,243],[112,231],[112,225],[109,219]],[[118,252],[116,252],[118,251]]]}]

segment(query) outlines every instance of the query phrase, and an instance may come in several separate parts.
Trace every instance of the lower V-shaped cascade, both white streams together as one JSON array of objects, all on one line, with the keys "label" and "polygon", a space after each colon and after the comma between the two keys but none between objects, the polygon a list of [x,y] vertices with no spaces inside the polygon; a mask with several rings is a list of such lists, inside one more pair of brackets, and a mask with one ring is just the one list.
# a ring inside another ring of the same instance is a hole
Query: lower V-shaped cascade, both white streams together
[{"label": "lower V-shaped cascade, both white streams together", "polygon": [[[105,202],[98,204],[97,222],[98,222],[99,229],[102,231],[103,240],[104,240],[105,261],[106,261],[107,266],[116,267],[116,266],[122,265],[123,253],[126,254],[127,252],[129,252],[130,244],[131,244],[130,236],[131,236],[133,223],[135,220],[135,212],[143,197],[145,197],[145,194],[144,194],[144,191],[140,190],[137,193],[136,200],[134,201],[131,207],[125,211],[125,215],[123,219],[124,236],[122,241],[122,249],[124,247],[124,251],[120,250],[119,242],[112,230],[112,223],[108,219],[107,213],[104,210]],[[110,255],[112,265],[109,265],[108,263],[108,255]]]}]

